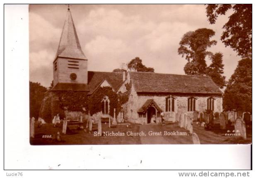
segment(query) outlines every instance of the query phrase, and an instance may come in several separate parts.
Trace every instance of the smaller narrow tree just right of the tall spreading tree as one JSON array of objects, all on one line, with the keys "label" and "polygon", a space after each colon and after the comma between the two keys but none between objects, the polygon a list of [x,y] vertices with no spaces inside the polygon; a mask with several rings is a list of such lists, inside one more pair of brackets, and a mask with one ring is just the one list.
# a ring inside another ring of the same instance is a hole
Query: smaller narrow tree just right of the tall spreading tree
[{"label": "smaller narrow tree just right of the tall spreading tree", "polygon": [[222,53],[217,52],[215,53],[212,57],[212,63],[210,64],[210,66],[207,67],[207,76],[210,76],[212,78],[212,80],[215,82],[215,84],[219,87],[219,88],[224,88],[225,86],[225,76],[222,76],[223,72],[223,67],[224,64],[222,64]]}]

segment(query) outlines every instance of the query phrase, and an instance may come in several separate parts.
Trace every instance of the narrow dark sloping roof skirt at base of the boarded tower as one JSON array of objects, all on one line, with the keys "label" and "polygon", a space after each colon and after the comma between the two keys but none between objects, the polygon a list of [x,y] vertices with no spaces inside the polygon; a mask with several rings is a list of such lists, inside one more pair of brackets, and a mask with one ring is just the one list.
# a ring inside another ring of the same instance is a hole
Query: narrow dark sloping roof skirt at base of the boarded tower
[{"label": "narrow dark sloping roof skirt at base of the boarded tower", "polygon": [[80,83],[57,83],[51,90],[52,91],[87,91],[89,92],[89,87],[87,84],[80,84]]}]

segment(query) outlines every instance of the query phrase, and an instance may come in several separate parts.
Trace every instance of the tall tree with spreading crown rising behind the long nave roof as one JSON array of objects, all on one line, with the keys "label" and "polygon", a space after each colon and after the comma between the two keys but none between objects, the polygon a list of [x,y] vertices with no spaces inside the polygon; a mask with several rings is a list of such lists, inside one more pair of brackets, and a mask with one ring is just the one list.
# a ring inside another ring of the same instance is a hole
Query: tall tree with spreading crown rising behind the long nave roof
[{"label": "tall tree with spreading crown rising behind the long nave roof", "polygon": [[210,40],[215,35],[212,29],[199,28],[196,31],[189,31],[184,34],[179,42],[178,54],[186,56],[188,60],[184,67],[185,74],[204,75],[206,74],[206,56],[212,56],[212,52],[207,51],[212,45],[216,45],[216,40]]}]

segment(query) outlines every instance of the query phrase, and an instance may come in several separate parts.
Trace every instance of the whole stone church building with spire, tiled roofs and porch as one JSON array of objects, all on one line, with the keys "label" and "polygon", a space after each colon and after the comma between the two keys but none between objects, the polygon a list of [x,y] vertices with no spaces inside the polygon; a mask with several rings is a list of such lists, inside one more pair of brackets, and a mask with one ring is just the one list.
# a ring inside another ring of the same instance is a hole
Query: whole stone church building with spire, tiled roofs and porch
[{"label": "whole stone church building with spire, tiled roofs and porch", "polygon": [[[98,111],[111,118],[121,116],[124,121],[132,123],[147,124],[153,116],[176,122],[184,113],[222,112],[223,93],[208,76],[88,71],[89,60],[82,51],[68,9],[56,57],[53,59],[53,88],[45,94],[39,117],[51,122],[57,113],[62,112],[63,96],[78,93],[82,96],[79,100],[87,100],[99,88],[111,88],[118,95],[127,93],[127,100],[121,103],[119,110],[116,110],[118,106],[112,104],[112,94],[100,93],[103,97],[98,99],[101,102]],[[97,107],[96,104],[89,104],[89,108],[94,107]],[[74,108],[72,111],[75,111]],[[77,109],[77,112],[81,110]]]}]

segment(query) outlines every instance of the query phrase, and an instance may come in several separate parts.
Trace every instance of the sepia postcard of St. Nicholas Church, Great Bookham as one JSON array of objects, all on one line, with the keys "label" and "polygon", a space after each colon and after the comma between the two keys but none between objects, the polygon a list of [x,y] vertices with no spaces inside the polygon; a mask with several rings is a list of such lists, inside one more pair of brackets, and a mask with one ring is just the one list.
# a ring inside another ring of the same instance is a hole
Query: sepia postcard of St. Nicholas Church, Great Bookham
[{"label": "sepia postcard of St. Nicholas Church, Great Bookham", "polygon": [[252,5],[29,5],[29,104],[31,145],[251,144]]}]

